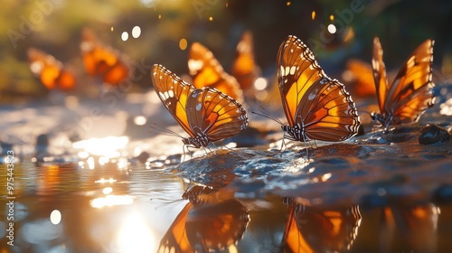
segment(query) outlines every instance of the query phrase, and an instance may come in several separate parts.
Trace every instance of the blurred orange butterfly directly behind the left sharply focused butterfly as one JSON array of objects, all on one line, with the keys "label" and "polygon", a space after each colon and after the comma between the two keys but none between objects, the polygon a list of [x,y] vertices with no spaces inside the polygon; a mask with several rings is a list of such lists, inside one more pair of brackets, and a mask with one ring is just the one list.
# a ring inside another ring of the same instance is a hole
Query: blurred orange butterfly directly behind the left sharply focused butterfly
[{"label": "blurred orange butterfly directly behind the left sharply focused butterfly", "polygon": [[239,82],[226,73],[213,53],[199,42],[193,42],[190,47],[188,69],[190,75],[193,76],[195,88],[212,87],[239,102],[243,102]]}]

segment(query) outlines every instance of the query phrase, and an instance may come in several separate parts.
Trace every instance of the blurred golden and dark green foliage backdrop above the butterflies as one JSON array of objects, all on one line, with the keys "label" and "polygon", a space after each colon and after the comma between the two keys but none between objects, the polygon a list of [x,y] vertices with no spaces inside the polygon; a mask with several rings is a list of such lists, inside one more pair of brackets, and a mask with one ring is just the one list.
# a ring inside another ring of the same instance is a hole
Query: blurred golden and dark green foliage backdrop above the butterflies
[{"label": "blurred golden and dark green foliage backdrop above the butterflies", "polygon": [[[266,77],[274,76],[278,46],[289,34],[306,42],[335,78],[341,78],[349,59],[371,62],[375,35],[381,38],[389,70],[399,69],[420,42],[433,38],[434,65],[444,74],[452,72],[452,35],[448,33],[452,3],[446,0],[7,0],[3,6],[0,103],[4,104],[42,98],[48,92],[30,71],[30,47],[61,61],[76,74],[79,87],[92,85],[80,55],[81,31],[86,27],[100,42],[147,66],[147,73],[134,81],[130,92],[152,87],[148,70],[154,63],[179,75],[187,73],[187,49],[192,42],[202,42],[230,70],[245,30],[253,33],[256,61]],[[132,36],[136,26],[137,38]]]}]

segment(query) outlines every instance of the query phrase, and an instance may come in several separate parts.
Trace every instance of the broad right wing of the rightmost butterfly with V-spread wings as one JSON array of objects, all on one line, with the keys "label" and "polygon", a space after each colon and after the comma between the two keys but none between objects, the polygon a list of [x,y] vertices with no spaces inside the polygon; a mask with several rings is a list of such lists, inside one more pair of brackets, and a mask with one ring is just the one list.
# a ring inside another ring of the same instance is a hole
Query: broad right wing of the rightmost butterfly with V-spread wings
[{"label": "broad right wing of the rightmost butterfly with V-spread wings", "polygon": [[382,112],[393,113],[400,122],[413,122],[433,105],[433,44],[430,39],[422,42],[405,61],[387,91]]}]

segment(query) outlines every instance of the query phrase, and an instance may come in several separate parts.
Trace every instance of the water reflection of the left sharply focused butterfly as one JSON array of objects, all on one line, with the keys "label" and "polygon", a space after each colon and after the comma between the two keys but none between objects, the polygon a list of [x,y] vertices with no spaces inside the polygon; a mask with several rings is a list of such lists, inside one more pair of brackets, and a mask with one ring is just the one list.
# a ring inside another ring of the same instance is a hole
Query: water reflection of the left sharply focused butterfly
[{"label": "water reflection of the left sharply focused butterfly", "polygon": [[166,231],[157,252],[217,252],[241,239],[250,221],[248,211],[234,199],[198,200],[198,194],[211,192],[196,186],[187,193],[190,202]]}]

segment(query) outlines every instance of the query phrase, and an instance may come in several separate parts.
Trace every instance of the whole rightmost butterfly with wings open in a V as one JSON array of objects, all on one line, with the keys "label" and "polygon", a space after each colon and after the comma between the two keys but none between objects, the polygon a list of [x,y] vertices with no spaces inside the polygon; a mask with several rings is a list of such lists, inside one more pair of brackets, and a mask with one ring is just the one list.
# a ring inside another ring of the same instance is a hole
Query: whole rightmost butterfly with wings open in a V
[{"label": "whole rightmost butterfly with wings open in a V", "polygon": [[381,43],[378,37],[373,39],[372,70],[380,112],[372,112],[371,117],[385,131],[391,125],[417,122],[433,106],[433,44],[430,39],[422,42],[388,85]]}]

